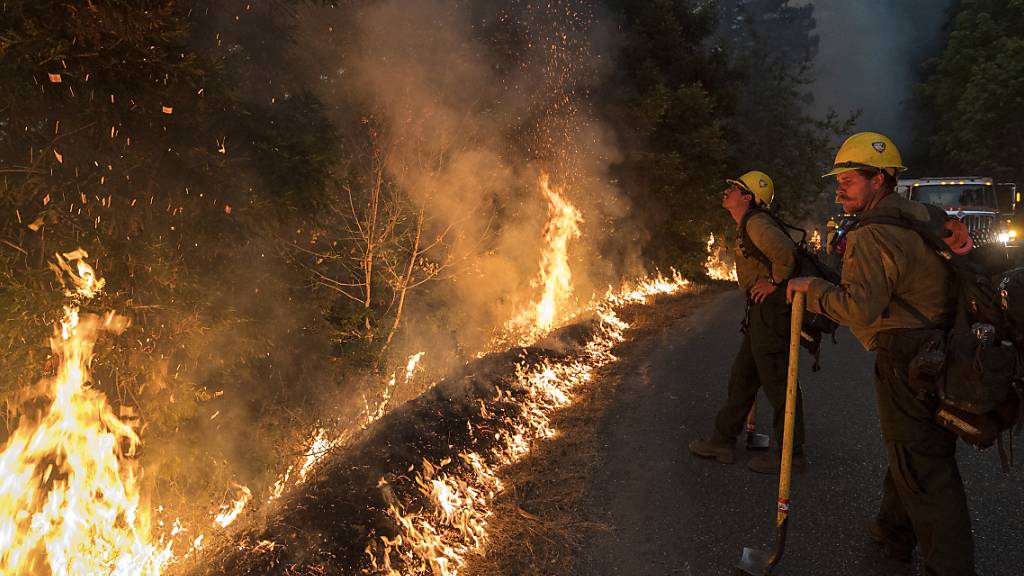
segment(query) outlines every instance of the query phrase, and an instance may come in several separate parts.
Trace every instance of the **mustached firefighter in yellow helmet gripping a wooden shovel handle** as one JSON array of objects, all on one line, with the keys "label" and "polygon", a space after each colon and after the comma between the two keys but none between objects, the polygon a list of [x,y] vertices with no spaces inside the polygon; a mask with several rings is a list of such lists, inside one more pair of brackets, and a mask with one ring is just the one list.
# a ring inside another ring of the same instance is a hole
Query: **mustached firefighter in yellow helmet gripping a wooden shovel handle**
[{"label": "mustached firefighter in yellow helmet gripping a wooden shovel handle", "polygon": [[[895,193],[904,170],[899,151],[874,132],[850,136],[825,176],[836,176],[837,202],[861,217],[874,208],[928,219],[924,205]],[[955,310],[950,272],[912,230],[870,223],[846,239],[837,285],[795,278],[787,299],[806,292],[807,310],[851,328],[876,353],[874,389],[888,469],[878,516],[868,535],[885,556],[909,562],[914,546],[930,576],[975,576],[974,543],[964,484],[956,467],[956,437],[935,422],[938,400],[908,386],[910,360]],[[930,330],[931,329],[931,330]]]}]

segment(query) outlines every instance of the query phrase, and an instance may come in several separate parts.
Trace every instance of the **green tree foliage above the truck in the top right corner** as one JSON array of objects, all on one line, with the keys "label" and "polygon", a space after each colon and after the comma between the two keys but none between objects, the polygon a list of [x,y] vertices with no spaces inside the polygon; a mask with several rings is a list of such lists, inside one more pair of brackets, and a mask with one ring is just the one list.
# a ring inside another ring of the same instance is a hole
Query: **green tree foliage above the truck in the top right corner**
[{"label": "green tree foliage above the truck in the top right corner", "polygon": [[1024,2],[963,0],[918,105],[943,173],[1024,179]]}]

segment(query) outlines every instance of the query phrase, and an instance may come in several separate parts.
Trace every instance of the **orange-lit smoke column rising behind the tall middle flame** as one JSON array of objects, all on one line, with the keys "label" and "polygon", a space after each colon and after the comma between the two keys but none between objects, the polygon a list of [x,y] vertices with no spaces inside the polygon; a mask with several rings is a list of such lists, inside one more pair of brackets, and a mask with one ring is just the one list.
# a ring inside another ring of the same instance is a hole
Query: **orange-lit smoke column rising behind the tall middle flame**
[{"label": "orange-lit smoke column rising behind the tall middle flame", "polygon": [[[423,210],[425,241],[441,240],[434,257],[455,271],[410,301],[407,332],[435,361],[481,349],[536,295],[542,170],[583,213],[570,248],[578,296],[638,261],[634,247],[607,242],[627,206],[608,183],[616,149],[589,111],[608,37],[592,10],[570,0],[385,0],[303,14],[299,51],[327,71],[310,77],[329,114],[357,106],[380,122],[388,177]],[[427,317],[433,324],[417,322]]]}]

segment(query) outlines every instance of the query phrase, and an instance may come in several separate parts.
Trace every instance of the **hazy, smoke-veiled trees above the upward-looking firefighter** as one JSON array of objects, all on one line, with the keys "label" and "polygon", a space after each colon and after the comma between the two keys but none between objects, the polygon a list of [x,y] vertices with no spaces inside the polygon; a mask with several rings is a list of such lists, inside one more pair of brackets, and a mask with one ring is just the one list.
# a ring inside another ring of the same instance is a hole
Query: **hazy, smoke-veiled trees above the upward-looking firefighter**
[{"label": "hazy, smoke-veiled trees above the upward-looking firefighter", "polygon": [[[735,108],[724,122],[729,168],[762,170],[790,219],[810,215],[823,190],[826,152],[849,128],[835,116],[808,116],[811,66],[817,54],[814,5],[788,0],[722,0],[716,41],[732,72]],[[814,214],[822,219],[822,214]]]}]

